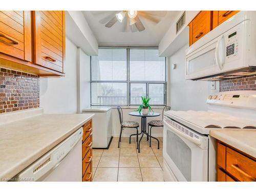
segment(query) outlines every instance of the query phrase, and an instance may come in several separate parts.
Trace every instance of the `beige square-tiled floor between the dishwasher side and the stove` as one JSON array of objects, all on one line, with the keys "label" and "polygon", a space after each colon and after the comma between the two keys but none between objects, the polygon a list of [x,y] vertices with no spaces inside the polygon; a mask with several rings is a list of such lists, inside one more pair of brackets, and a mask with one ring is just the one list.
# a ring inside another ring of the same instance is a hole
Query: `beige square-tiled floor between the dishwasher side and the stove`
[{"label": "beige square-tiled floor between the dishwasher side and the stove", "polygon": [[118,148],[114,137],[109,150],[93,150],[93,181],[163,181],[163,142],[143,138],[140,153],[136,150],[136,139],[122,138]]}]

